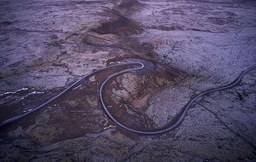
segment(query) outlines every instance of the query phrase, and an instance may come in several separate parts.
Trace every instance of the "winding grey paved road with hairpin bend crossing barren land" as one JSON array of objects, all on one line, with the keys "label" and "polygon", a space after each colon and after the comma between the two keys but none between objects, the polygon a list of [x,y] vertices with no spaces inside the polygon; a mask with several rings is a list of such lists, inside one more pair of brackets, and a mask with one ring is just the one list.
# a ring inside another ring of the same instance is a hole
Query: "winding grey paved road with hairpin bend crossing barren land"
[{"label": "winding grey paved road with hairpin bend crossing barren land", "polygon": [[67,87],[67,89],[65,89],[64,91],[60,92],[60,94],[54,96],[53,98],[49,99],[48,101],[46,101],[45,103],[43,103],[42,105],[34,108],[33,110],[29,111],[29,112],[26,112],[24,114],[21,114],[21,115],[17,115],[16,117],[13,117],[12,119],[8,119],[4,122],[1,122],[0,126],[5,126],[6,124],[9,124],[10,122],[13,122],[13,121],[17,121],[18,119],[28,115],[28,114],[31,114],[31,112],[35,112],[36,110],[38,110],[39,108],[42,108],[44,107],[45,105],[47,105],[48,103],[51,103],[51,101],[53,101],[54,99],[60,97],[62,94],[64,94],[65,92],[67,92],[68,90],[72,89],[72,87],[74,87],[76,84],[78,84],[79,82],[81,82],[81,80],[84,80],[85,78],[90,78],[92,75],[95,75],[95,73],[98,73],[99,71],[102,71],[102,70],[106,70],[108,68],[112,68],[112,67],[115,67],[115,66],[123,66],[123,65],[139,65],[140,67],[138,68],[129,68],[129,69],[126,69],[126,70],[122,70],[122,71],[118,71],[116,73],[113,73],[112,75],[110,75],[108,78],[106,78],[106,80],[104,80],[104,82],[102,83],[102,85],[100,86],[100,90],[99,90],[99,96],[100,96],[100,101],[102,103],[102,106],[106,112],[106,114],[108,114],[108,116],[112,119],[112,121],[114,121],[116,124],[118,124],[118,126],[124,128],[124,129],[127,129],[129,131],[132,131],[132,132],[135,132],[135,133],[140,133],[140,134],[144,134],[144,135],[154,135],[154,134],[159,134],[159,133],[164,133],[166,131],[170,131],[174,128],[176,128],[180,122],[182,122],[182,120],[184,119],[186,113],[188,112],[189,108],[191,107],[191,105],[193,105],[193,103],[195,103],[196,99],[198,98],[201,98],[202,96],[205,96],[206,94],[209,94],[211,92],[215,92],[215,91],[221,91],[221,90],[225,90],[225,89],[230,89],[236,85],[239,84],[239,82],[241,82],[242,78],[244,77],[244,75],[248,72],[248,71],[251,71],[253,69],[256,68],[256,66],[252,66],[251,68],[248,68],[247,70],[243,71],[243,73],[241,73],[241,75],[239,75],[239,77],[234,80],[234,82],[232,82],[231,84],[228,84],[228,85],[225,85],[223,87],[218,87],[218,88],[215,88],[215,89],[209,89],[207,91],[204,91],[204,92],[201,92],[200,94],[198,94],[197,96],[195,96],[195,98],[191,99],[188,104],[186,105],[186,107],[184,108],[182,114],[180,115],[179,119],[174,123],[172,124],[171,126],[169,126],[168,128],[164,128],[164,129],[159,129],[159,130],[156,130],[156,131],[140,131],[140,130],[136,130],[136,129],[132,129],[132,128],[129,128],[127,126],[125,126],[124,124],[118,122],[115,117],[113,117],[113,115],[111,115],[111,113],[109,112],[108,108],[106,107],[106,104],[104,103],[104,99],[103,99],[103,96],[102,96],[102,89],[104,88],[104,85],[106,84],[106,82],[108,82],[108,80],[110,80],[111,78],[115,77],[116,75],[119,75],[121,73],[125,73],[125,72],[129,72],[129,71],[135,71],[135,70],[141,70],[144,68],[144,64],[143,63],[139,63],[139,62],[132,62],[132,63],[120,63],[120,64],[115,64],[115,65],[111,65],[111,66],[108,66],[106,68],[102,68],[100,70],[96,70],[96,71],[93,71],[92,73],[88,73],[87,75],[84,75],[83,77],[81,77],[79,80],[77,80],[76,82],[74,82],[74,84],[70,85],[69,87]]}]

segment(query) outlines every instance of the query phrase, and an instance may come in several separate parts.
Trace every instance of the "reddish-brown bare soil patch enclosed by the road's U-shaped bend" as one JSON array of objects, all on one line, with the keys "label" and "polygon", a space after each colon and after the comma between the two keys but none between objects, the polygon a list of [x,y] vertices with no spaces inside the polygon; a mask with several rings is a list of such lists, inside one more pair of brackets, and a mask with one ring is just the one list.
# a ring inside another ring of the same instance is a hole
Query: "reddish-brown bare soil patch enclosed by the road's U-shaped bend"
[{"label": "reddish-brown bare soil patch enclosed by the road's U-shaped bend", "polygon": [[154,124],[145,115],[150,94],[176,84],[184,77],[186,74],[181,71],[154,64],[154,70],[144,75],[124,73],[109,80],[103,89],[104,101],[113,117],[125,126],[148,130]]}]

